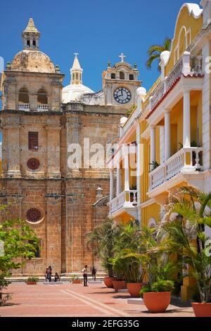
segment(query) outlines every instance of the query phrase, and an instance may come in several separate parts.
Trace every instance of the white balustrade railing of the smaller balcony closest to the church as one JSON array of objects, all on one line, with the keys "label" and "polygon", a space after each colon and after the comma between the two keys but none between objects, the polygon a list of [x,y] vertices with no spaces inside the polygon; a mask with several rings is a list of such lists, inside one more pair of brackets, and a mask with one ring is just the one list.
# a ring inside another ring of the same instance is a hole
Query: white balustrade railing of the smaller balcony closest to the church
[{"label": "white balustrade railing of the smaller balcony closest to the church", "polygon": [[136,206],[137,191],[124,191],[110,201],[110,213],[115,213],[115,211],[118,211],[120,208],[135,208]]}]

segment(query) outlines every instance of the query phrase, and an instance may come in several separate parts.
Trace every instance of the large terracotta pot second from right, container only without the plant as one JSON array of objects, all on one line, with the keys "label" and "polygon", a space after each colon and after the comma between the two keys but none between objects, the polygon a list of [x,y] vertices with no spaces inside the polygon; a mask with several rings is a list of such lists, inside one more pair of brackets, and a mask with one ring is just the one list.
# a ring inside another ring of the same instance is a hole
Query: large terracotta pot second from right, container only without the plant
[{"label": "large terracotta pot second from right, container only without the plant", "polygon": [[143,293],[143,302],[151,313],[163,313],[170,305],[171,292]]}]

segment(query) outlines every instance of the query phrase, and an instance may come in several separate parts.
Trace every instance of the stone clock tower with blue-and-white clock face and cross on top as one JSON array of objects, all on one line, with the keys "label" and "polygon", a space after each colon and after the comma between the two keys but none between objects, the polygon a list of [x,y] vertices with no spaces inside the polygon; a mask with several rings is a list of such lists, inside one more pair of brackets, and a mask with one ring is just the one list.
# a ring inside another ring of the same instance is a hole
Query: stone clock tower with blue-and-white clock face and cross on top
[{"label": "stone clock tower with blue-and-white clock face and cross on top", "polygon": [[107,70],[103,71],[103,91],[106,106],[120,106],[131,108],[135,104],[136,89],[141,86],[138,80],[139,70],[137,65],[124,62],[124,54],[120,55],[121,61],[113,67],[108,62]]}]

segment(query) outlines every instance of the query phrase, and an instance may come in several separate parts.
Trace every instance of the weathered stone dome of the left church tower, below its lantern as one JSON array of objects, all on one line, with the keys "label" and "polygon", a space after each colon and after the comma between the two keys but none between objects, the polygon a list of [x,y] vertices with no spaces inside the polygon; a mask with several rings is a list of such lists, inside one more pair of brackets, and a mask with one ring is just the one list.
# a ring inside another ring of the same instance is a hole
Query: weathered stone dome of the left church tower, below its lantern
[{"label": "weathered stone dome of the left church tower, below its lantern", "polygon": [[55,73],[53,62],[41,51],[24,49],[15,55],[11,70],[29,71],[32,73]]}]

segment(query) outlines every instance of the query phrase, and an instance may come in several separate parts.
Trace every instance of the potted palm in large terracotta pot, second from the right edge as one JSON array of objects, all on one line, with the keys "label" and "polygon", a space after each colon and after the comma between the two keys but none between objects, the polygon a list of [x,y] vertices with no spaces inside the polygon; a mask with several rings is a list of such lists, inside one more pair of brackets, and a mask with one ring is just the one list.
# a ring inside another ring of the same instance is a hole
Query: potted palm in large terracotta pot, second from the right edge
[{"label": "potted palm in large terracotta pot, second from the right edge", "polygon": [[160,249],[163,237],[158,235],[157,227],[143,227],[140,239],[143,246],[142,266],[148,278],[148,285],[141,289],[143,301],[151,313],[162,313],[170,304],[178,266]]}]

